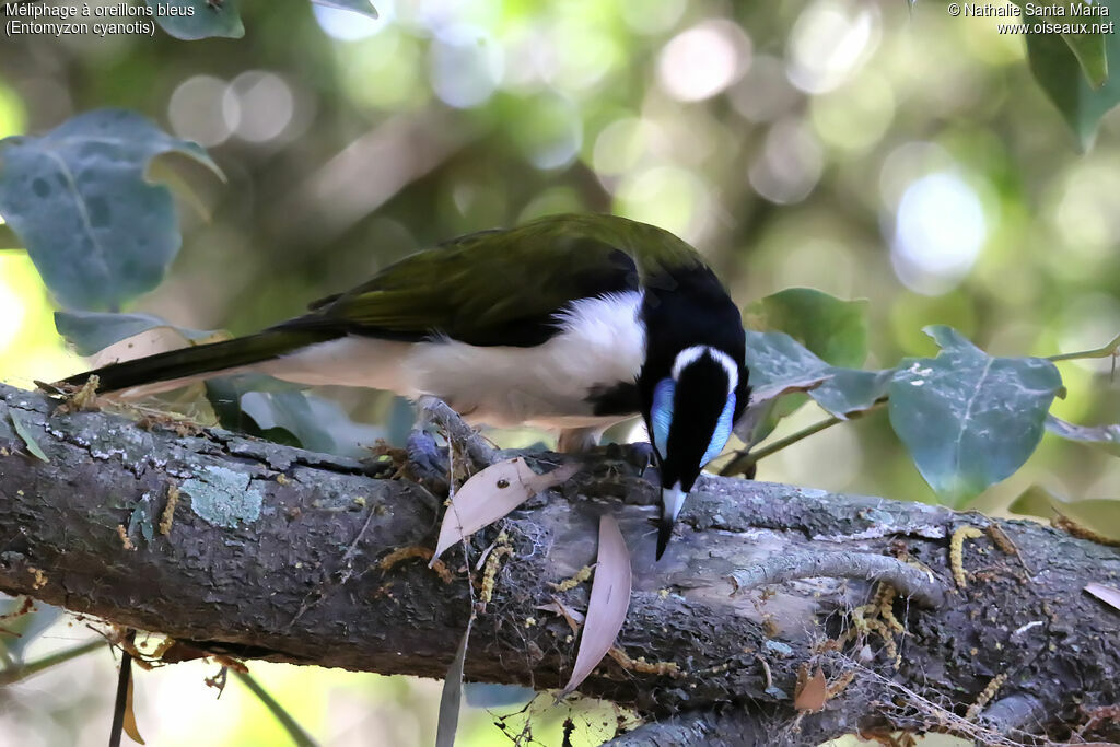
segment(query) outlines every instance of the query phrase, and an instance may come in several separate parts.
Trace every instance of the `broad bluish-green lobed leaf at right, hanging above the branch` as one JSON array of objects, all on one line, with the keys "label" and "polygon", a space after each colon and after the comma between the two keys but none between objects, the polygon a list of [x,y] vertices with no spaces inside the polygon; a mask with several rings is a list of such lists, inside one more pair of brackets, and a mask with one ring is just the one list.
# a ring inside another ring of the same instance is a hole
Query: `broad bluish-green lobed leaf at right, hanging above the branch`
[{"label": "broad bluish-green lobed leaf at right, hanging above the branch", "polygon": [[1043,358],[996,358],[951,327],[926,327],[935,358],[906,358],[888,389],[890,424],[922,477],[959,506],[1034,452],[1062,377]]}]

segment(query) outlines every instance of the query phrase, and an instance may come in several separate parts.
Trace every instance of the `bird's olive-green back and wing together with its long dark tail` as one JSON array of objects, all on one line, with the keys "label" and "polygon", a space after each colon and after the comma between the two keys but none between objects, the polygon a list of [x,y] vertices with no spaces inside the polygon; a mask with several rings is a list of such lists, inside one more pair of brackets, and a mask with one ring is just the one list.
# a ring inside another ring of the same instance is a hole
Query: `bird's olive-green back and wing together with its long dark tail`
[{"label": "bird's olive-green back and wing together with its long dark tail", "polygon": [[92,373],[102,391],[170,381],[276,358],[344,335],[419,340],[446,335],[472,345],[531,346],[556,333],[569,301],[634,290],[701,264],[691,246],[643,223],[609,215],[554,215],[484,231],[413,254],[368,282],[256,335],[187,347]]}]

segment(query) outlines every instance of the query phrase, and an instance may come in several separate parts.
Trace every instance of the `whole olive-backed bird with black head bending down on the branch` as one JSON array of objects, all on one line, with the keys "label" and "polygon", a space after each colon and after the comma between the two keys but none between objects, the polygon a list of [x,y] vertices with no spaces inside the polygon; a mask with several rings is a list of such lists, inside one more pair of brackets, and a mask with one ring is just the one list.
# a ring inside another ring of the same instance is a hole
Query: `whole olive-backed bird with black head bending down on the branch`
[{"label": "whole olive-backed bird with black head bending down on the branch", "polygon": [[256,334],[87,371],[137,398],[255,372],[437,396],[472,423],[594,445],[641,414],[661,479],[660,560],[703,466],[749,395],[741,315],[703,258],[663,228],[550,215],[452,239]]}]

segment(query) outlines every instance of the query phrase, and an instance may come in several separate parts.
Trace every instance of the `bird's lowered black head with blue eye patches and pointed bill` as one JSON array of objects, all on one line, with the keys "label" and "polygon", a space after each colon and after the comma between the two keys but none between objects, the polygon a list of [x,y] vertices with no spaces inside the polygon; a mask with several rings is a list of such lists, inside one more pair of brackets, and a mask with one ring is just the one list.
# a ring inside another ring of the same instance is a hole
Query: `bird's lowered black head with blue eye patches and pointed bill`
[{"label": "bird's lowered black head with blue eye patches and pointed bill", "polygon": [[724,450],[750,391],[738,308],[707,268],[674,280],[671,289],[646,291],[646,362],[638,377],[661,470],[659,560],[684,497]]}]

